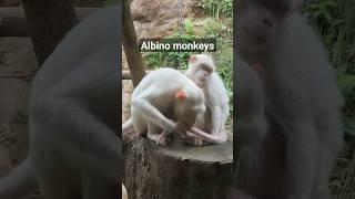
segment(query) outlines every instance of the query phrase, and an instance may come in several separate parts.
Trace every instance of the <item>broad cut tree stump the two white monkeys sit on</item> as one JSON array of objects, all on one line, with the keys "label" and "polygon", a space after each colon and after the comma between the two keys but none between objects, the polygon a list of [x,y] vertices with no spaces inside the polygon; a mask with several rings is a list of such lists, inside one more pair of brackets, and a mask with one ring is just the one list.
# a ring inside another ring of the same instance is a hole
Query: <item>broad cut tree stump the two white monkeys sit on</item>
[{"label": "broad cut tree stump the two white monkeys sit on", "polygon": [[130,199],[220,199],[233,174],[233,143],[156,146],[138,136],[125,142],[124,185]]}]

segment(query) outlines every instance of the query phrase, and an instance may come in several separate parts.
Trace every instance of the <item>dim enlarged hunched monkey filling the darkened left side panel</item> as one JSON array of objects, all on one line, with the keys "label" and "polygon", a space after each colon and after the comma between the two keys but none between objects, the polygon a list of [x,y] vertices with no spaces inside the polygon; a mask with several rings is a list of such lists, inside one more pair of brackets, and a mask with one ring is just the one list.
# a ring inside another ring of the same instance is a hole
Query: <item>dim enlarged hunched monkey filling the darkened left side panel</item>
[{"label": "dim enlarged hunched monkey filling the darkened left side panel", "polygon": [[84,19],[37,73],[29,103],[29,157],[0,181],[1,199],[37,185],[45,199],[120,196],[118,8]]}]

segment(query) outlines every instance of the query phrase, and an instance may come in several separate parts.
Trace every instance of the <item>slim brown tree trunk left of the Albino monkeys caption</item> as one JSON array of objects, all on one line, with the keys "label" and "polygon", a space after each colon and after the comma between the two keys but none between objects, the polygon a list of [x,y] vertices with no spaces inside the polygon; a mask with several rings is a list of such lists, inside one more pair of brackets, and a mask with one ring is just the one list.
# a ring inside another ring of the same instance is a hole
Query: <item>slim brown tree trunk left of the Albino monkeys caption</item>
[{"label": "slim brown tree trunk left of the Albino monkeys caption", "polygon": [[142,55],[138,50],[136,33],[131,17],[130,4],[131,0],[123,0],[122,32],[125,57],[130,67],[133,86],[135,87],[144,77],[145,71],[143,69]]}]

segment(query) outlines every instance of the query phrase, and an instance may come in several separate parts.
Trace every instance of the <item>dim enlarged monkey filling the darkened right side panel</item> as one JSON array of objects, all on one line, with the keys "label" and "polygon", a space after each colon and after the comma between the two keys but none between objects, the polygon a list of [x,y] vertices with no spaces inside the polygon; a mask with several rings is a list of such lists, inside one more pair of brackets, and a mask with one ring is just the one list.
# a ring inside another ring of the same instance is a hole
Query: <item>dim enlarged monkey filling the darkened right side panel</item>
[{"label": "dim enlarged monkey filling the darkened right side panel", "polygon": [[241,150],[231,198],[329,199],[343,132],[342,94],[301,0],[240,0],[239,51],[264,70],[268,132]]}]

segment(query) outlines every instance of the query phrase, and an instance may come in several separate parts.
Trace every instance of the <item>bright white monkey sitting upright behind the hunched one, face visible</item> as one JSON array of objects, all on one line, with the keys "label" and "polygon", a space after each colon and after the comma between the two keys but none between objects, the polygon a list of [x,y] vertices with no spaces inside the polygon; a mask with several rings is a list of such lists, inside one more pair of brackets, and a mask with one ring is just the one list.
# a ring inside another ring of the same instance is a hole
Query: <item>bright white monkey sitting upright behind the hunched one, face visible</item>
[{"label": "bright white monkey sitting upright behind the hunched one, face visible", "polygon": [[221,77],[215,72],[212,57],[206,54],[191,55],[185,75],[202,88],[206,105],[206,112],[197,116],[190,130],[206,143],[226,142],[225,123],[230,114],[230,100]]}]

